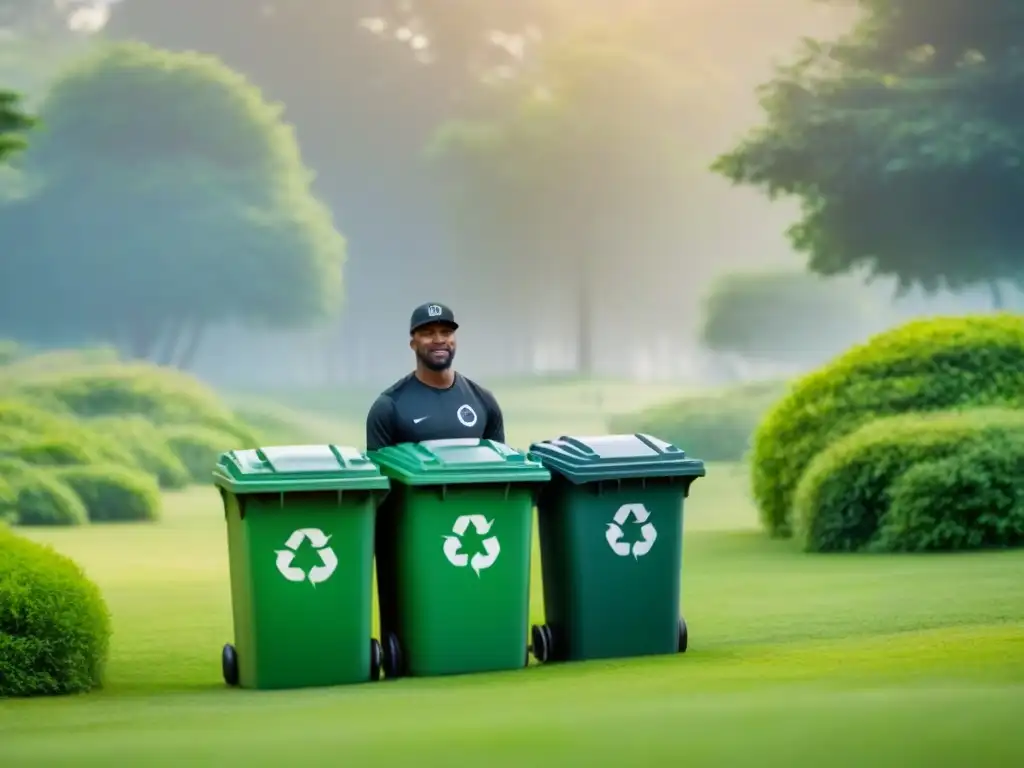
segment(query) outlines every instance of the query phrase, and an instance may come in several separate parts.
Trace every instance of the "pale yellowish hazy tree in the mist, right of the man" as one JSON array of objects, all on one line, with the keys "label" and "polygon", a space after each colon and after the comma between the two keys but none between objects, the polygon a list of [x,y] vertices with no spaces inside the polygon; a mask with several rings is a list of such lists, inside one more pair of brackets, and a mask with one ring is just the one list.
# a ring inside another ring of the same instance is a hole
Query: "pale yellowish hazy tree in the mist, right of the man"
[{"label": "pale yellowish hazy tree in the mist, right of the man", "polygon": [[[601,324],[635,329],[651,307],[664,323],[678,300],[690,157],[708,140],[700,86],[634,43],[625,27],[566,36],[509,89],[504,116],[449,124],[431,150],[464,268],[476,285],[489,275],[488,299],[507,311],[572,307],[585,375]],[[540,310],[531,319],[553,325]]]}]

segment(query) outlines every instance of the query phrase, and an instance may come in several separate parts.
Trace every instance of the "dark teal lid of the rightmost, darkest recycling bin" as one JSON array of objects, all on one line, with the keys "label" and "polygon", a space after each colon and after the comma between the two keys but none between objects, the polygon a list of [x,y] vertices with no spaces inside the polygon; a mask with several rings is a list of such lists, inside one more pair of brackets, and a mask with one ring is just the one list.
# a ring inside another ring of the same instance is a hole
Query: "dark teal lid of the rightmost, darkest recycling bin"
[{"label": "dark teal lid of the rightmost, darkest recycling bin", "polygon": [[529,458],[573,483],[642,477],[703,477],[705,465],[649,434],[562,435],[529,446]]}]

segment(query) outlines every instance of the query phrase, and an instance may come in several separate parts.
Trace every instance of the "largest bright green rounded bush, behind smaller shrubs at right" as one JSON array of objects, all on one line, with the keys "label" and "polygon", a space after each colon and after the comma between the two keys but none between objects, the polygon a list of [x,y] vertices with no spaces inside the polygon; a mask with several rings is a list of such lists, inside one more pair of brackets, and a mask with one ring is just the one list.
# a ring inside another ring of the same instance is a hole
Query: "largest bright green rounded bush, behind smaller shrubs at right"
[{"label": "largest bright green rounded bush, behind smaller shrubs at right", "polygon": [[1024,404],[1024,317],[916,321],[800,380],[758,427],[753,485],[773,536],[792,534],[801,476],[829,443],[873,419]]}]

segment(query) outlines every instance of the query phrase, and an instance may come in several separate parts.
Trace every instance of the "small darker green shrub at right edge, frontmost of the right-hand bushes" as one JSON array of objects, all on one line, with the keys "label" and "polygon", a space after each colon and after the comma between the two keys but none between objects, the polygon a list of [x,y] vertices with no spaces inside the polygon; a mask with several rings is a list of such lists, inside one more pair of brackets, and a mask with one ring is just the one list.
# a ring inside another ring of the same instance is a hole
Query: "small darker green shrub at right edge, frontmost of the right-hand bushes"
[{"label": "small darker green shrub at right edge, frontmost of the right-hand bushes", "polygon": [[1024,438],[1013,453],[977,445],[919,464],[889,493],[878,549],[939,552],[1024,546]]}]

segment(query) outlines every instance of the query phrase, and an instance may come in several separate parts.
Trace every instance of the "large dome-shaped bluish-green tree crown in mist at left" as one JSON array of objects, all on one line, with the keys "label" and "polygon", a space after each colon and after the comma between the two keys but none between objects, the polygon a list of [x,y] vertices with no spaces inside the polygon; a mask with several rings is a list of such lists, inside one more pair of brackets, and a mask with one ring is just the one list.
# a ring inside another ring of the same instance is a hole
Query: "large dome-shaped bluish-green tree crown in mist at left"
[{"label": "large dome-shaped bluish-green tree crown in mist at left", "polygon": [[338,307],[345,244],[281,110],[213,57],[104,47],[69,70],[24,155],[35,195],[0,322],[186,366],[211,324]]}]

